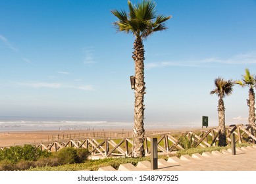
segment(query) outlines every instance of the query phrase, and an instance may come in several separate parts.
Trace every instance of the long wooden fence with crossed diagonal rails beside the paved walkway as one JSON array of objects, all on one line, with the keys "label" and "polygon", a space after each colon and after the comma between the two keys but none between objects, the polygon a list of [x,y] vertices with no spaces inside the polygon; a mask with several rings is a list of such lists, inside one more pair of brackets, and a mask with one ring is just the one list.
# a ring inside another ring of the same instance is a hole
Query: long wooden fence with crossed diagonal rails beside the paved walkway
[{"label": "long wooden fence with crossed diagonal rails beside the paved walkway", "polygon": [[[226,127],[227,142],[231,143],[230,135],[234,133],[236,143],[255,143],[256,127],[242,124]],[[184,150],[186,147],[211,147],[216,145],[220,131],[217,127],[201,129],[200,131],[184,131],[176,133],[161,133],[144,137],[145,154],[150,154],[151,137],[157,137],[159,154],[170,154],[174,150]],[[68,141],[55,141],[45,145],[40,143],[41,150],[58,151],[64,147],[85,148],[90,150],[92,156],[103,158],[111,156],[129,157],[132,154],[132,137],[105,138],[98,137],[86,139],[70,139]]]}]

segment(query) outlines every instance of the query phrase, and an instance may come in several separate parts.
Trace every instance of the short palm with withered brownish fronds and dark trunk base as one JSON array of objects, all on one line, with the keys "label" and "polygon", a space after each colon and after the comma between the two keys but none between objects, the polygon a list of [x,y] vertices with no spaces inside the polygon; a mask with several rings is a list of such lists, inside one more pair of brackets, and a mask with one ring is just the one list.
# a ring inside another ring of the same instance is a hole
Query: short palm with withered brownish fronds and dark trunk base
[{"label": "short palm with withered brownish fronds and dark trunk base", "polygon": [[215,89],[210,92],[211,95],[218,95],[218,129],[220,134],[218,135],[218,146],[226,146],[226,128],[225,128],[225,107],[223,98],[231,95],[233,91],[234,82],[232,80],[224,80],[218,77],[215,79]]}]

